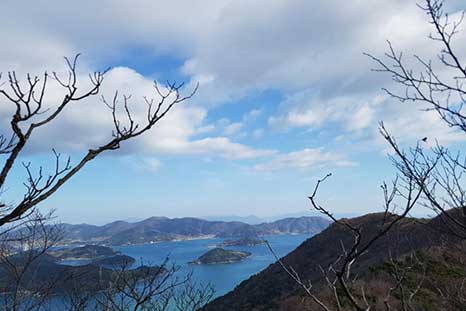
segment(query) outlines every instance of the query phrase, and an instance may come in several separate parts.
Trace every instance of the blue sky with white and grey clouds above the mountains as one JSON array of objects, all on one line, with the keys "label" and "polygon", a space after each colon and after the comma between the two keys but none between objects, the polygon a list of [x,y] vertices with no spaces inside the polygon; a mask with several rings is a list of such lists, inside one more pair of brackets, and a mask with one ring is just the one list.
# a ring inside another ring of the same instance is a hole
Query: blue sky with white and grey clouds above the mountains
[{"label": "blue sky with white and grey clouds above the mountains", "polygon": [[[42,204],[60,221],[302,212],[311,208],[316,181],[330,172],[319,193],[325,207],[376,212],[381,183],[395,176],[380,121],[402,146],[426,136],[428,144],[464,143],[435,113],[387,96],[382,88],[396,86],[371,71],[376,64],[363,54],[383,57],[390,40],[407,62],[413,55],[435,60],[440,46],[428,40],[433,29],[415,1],[2,4],[0,72],[16,70],[23,81],[27,72],[61,73],[64,56],[82,53],[80,86],[87,73],[110,68],[101,94],[131,94],[136,119],[144,116],[143,97],[157,98],[153,81],[185,82],[186,94],[199,84],[153,130],[94,160]],[[455,17],[466,5],[450,0],[446,9]],[[466,40],[458,38],[463,58]],[[47,105],[61,96],[52,85]],[[111,137],[111,115],[99,97],[68,108],[35,133],[21,161],[50,168],[55,148],[76,163]],[[11,109],[1,98],[2,133]],[[24,178],[17,165],[2,189],[5,200],[21,200]]]}]

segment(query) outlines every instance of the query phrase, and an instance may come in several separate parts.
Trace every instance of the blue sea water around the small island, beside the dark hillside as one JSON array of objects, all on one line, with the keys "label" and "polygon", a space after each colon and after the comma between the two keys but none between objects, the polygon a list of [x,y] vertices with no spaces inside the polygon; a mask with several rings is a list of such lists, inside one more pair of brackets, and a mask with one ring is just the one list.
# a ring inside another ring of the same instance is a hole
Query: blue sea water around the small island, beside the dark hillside
[{"label": "blue sea water around the small island, beside the dark hillside", "polygon": [[[303,241],[310,238],[310,234],[301,235],[272,235],[264,237],[269,241],[275,253],[282,257]],[[227,249],[248,251],[252,256],[244,261],[233,264],[217,265],[189,265],[188,262],[197,259],[199,256],[214,248],[223,239],[189,240],[177,242],[161,242],[155,244],[143,244],[132,246],[115,246],[115,250],[129,255],[140,263],[160,264],[169,256],[170,262],[178,265],[178,273],[185,274],[191,272],[193,279],[202,284],[214,286],[215,296],[221,296],[231,291],[236,285],[248,279],[250,276],[272,264],[275,259],[265,244],[256,246],[227,247]]]}]

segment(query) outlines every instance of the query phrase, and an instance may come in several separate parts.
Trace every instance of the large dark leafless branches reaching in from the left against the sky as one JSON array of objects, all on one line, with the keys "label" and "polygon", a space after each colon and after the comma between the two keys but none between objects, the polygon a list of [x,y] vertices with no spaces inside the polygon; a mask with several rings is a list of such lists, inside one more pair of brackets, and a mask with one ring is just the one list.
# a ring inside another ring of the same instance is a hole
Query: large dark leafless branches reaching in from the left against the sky
[{"label": "large dark leafless branches reaching in from the left against the sky", "polygon": [[[78,58],[79,54],[73,59],[65,58],[66,76],[60,76],[56,72],[52,74],[46,72],[41,78],[28,74],[25,80],[21,81],[12,71],[8,72],[6,81],[0,84],[0,94],[3,100],[11,103],[14,107],[14,113],[10,119],[12,134],[0,135],[0,154],[6,158],[0,169],[0,193],[5,191],[7,177],[33,134],[41,127],[53,124],[62,116],[65,109],[99,93],[107,70],[90,74],[91,87],[80,90],[78,89],[77,74]],[[55,82],[55,85],[66,93],[61,102],[54,108],[46,108],[44,102],[50,81]],[[113,118],[112,137],[106,143],[89,149],[75,165],[71,164],[70,158],[63,160],[61,154],[53,150],[55,168],[48,174],[43,172],[42,167],[37,173],[34,173],[29,163],[23,164],[28,174],[24,183],[26,186],[25,194],[18,203],[11,205],[0,200],[0,227],[32,213],[39,203],[47,200],[89,161],[105,151],[118,149],[122,142],[149,131],[176,104],[190,99],[197,90],[196,86],[188,95],[182,95],[183,87],[183,83],[168,83],[165,87],[159,87],[155,83],[154,89],[157,97],[155,99],[144,98],[144,104],[147,105],[147,118],[144,124],[135,122],[129,107],[130,96],[123,96],[121,99],[118,92],[115,92],[111,101],[102,98]],[[124,111],[124,119],[118,117],[119,109]]]}]

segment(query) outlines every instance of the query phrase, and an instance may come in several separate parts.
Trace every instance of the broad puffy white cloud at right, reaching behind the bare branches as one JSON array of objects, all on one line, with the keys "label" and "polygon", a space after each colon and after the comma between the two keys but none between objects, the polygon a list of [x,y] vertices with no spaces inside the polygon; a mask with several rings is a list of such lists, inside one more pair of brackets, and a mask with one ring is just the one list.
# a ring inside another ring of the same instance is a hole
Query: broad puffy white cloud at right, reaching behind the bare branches
[{"label": "broad puffy white cloud at right, reaching behind the bare branches", "polygon": [[416,143],[425,136],[430,138],[430,144],[436,140],[444,145],[466,140],[457,129],[445,124],[436,112],[425,111],[425,105],[399,103],[389,96],[372,96],[323,100],[311,92],[301,92],[285,100],[280,111],[269,117],[268,123],[273,129],[282,131],[337,128],[337,140],[344,135],[345,140],[363,139],[382,149],[386,143],[379,134],[380,122],[384,122],[391,134],[404,144]]}]

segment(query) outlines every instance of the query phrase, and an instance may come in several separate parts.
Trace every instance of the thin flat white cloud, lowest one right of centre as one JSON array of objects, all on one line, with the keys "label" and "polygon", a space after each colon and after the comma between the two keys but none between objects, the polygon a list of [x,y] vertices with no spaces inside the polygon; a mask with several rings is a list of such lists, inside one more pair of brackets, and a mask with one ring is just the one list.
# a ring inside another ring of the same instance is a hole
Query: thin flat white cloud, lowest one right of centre
[{"label": "thin flat white cloud, lowest one right of centre", "polygon": [[323,166],[352,166],[353,162],[346,160],[338,154],[327,152],[322,148],[306,148],[287,154],[277,155],[269,162],[257,164],[254,167],[258,172],[273,172],[277,170],[309,170]]}]

